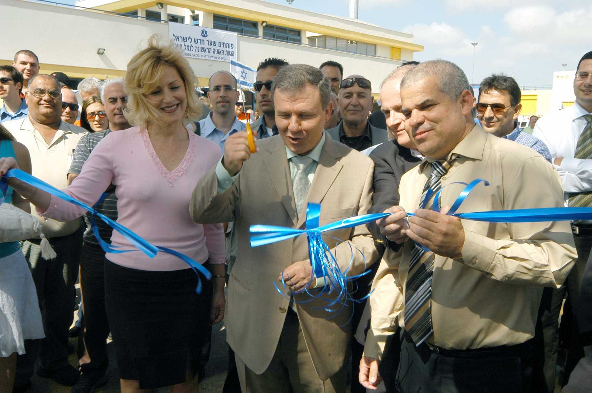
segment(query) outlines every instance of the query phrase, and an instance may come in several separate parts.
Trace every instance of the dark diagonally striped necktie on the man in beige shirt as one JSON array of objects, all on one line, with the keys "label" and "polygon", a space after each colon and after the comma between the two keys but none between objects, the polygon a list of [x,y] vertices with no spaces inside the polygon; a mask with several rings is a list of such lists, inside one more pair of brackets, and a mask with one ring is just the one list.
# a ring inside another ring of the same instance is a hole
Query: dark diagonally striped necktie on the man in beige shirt
[{"label": "dark diagonally striped necktie on the man in beige shirt", "polygon": [[[422,198],[419,206],[422,206],[426,198],[427,190],[432,189],[436,193],[442,188],[442,176],[448,172],[452,161],[459,156],[452,156],[448,161],[435,161],[432,163],[432,176],[423,187]],[[411,262],[407,274],[405,288],[405,330],[411,335],[416,346],[419,346],[430,334],[432,329],[431,298],[432,275],[434,272],[435,254],[424,251],[419,245],[415,245],[411,252]]]}]

